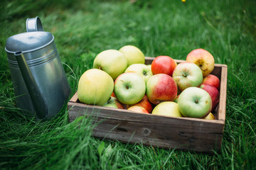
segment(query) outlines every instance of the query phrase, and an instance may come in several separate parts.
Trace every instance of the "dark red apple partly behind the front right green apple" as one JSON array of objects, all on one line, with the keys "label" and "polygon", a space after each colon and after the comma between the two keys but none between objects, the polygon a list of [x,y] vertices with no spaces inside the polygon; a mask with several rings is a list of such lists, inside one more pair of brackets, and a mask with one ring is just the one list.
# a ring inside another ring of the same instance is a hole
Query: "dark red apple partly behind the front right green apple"
[{"label": "dark red apple partly behind the front right green apple", "polygon": [[211,86],[209,84],[201,84],[200,88],[207,91],[208,94],[210,94],[210,98],[212,100],[212,110],[211,111],[214,111],[214,109],[216,108],[216,106],[218,105],[218,103],[220,101],[220,92],[214,86]]}]

